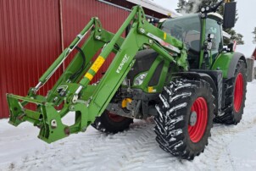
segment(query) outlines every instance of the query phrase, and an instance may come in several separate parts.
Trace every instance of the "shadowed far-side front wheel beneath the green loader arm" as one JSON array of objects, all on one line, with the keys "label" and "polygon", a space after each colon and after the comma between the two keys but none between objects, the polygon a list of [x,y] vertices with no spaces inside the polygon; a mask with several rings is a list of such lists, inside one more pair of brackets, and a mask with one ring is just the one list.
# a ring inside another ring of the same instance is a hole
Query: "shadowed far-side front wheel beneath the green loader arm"
[{"label": "shadowed far-side front wheel beneath the green loader arm", "polygon": [[125,118],[105,110],[100,117],[97,117],[92,124],[96,130],[105,133],[118,133],[129,129],[129,125],[133,123],[133,119]]}]

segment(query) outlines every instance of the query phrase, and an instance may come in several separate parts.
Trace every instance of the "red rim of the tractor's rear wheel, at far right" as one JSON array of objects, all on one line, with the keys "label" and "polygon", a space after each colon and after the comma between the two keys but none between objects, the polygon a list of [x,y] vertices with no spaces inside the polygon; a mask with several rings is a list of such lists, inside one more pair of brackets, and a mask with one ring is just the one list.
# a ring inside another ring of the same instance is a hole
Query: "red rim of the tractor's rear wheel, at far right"
[{"label": "red rim of the tractor's rear wheel, at far right", "polygon": [[235,91],[234,91],[234,108],[238,113],[242,106],[242,97],[243,97],[243,77],[242,74],[237,74]]}]

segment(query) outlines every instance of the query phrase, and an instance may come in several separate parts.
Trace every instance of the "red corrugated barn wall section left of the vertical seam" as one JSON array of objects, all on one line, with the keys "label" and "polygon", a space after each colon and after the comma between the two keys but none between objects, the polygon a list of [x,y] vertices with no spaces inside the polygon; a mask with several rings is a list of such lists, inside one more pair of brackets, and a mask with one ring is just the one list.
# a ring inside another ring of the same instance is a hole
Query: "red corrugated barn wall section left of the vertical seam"
[{"label": "red corrugated barn wall section left of the vertical seam", "polygon": [[61,52],[58,9],[57,0],[0,1],[0,118],[8,117],[6,93],[25,96]]}]

